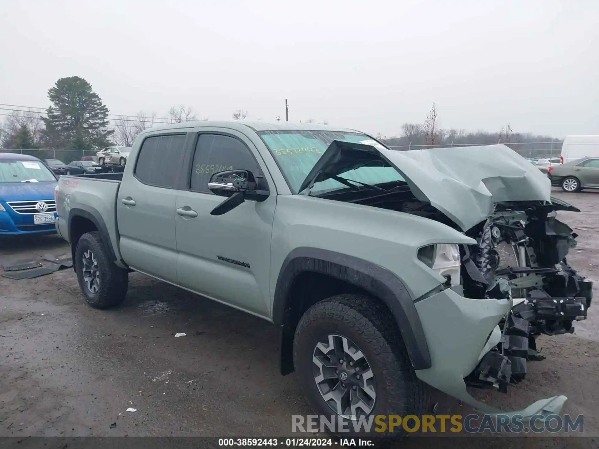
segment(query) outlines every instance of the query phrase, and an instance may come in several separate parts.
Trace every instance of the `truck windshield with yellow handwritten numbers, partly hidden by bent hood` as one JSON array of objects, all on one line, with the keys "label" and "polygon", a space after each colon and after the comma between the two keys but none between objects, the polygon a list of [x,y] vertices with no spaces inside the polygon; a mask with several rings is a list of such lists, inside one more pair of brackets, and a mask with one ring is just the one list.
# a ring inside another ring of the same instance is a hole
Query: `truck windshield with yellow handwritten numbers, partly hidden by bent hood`
[{"label": "truck windshield with yellow handwritten numbers, partly hidden by bent hood", "polygon": [[[261,131],[258,132],[258,135],[273,153],[289,187],[296,194],[299,193],[298,189],[305,177],[332,141],[341,140],[354,143],[372,141],[372,138],[358,132],[285,130]],[[405,181],[393,167],[361,167],[347,171],[341,177],[372,185]],[[329,179],[314,184],[311,193],[317,194],[337,189],[347,189],[347,186]]]}]

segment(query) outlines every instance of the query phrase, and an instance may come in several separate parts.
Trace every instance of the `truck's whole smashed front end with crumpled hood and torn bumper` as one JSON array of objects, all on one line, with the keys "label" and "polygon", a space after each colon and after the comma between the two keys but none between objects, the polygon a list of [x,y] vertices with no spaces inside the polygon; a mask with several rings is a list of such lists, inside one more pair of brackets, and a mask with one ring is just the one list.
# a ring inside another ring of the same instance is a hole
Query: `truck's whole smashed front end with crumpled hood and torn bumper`
[{"label": "truck's whole smashed front end with crumpled hood and torn bumper", "polygon": [[[506,392],[525,377],[528,362],[543,359],[539,335],[571,333],[574,321],[586,318],[592,282],[568,265],[576,233],[556,219],[557,211],[580,211],[552,198],[548,178],[505,145],[394,151],[373,140],[333,141],[299,192],[310,195],[329,178],[347,185],[361,170],[387,167],[404,181],[368,184],[364,172],[355,181],[362,187],[319,196],[446,225],[415,248],[417,263],[440,282],[414,301],[431,356],[431,367],[416,376],[483,413],[559,413],[565,396],[508,412],[477,401],[467,386]],[[353,178],[343,180],[349,171]],[[473,242],[459,244],[457,264],[456,233]],[[437,254],[449,265],[437,265]]]}]

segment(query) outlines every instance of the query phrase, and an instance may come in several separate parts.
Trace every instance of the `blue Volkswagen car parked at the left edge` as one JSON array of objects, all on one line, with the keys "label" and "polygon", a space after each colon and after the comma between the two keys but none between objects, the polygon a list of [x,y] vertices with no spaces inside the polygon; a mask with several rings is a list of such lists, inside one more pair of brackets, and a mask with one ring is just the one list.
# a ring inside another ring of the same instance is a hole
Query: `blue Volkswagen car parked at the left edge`
[{"label": "blue Volkswagen car parked at the left edge", "polygon": [[0,153],[0,235],[56,232],[57,184],[37,157]]}]

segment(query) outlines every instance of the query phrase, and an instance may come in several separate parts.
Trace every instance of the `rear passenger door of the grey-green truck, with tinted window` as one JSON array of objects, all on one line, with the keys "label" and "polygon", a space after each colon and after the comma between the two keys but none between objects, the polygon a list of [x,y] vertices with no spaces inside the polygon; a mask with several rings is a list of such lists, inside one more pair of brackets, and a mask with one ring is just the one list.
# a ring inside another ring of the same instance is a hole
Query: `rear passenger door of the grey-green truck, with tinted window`
[{"label": "rear passenger door of the grey-green truck, with tinted window", "polygon": [[141,144],[135,167],[123,175],[116,210],[120,253],[128,265],[177,282],[176,186],[186,134],[153,135]]}]

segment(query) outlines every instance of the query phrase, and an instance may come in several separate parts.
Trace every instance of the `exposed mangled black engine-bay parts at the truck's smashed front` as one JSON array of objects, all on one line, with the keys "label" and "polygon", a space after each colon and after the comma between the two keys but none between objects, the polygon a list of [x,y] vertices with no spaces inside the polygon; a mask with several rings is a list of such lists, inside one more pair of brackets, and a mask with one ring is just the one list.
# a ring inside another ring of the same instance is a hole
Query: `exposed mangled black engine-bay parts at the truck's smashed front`
[{"label": "exposed mangled black engine-bay parts at the truck's smashed front", "polygon": [[572,333],[574,321],[586,319],[592,281],[568,265],[577,235],[556,210],[576,208],[559,201],[498,204],[467,232],[479,245],[462,247],[465,295],[513,301],[499,324],[500,341],[465,377],[468,386],[506,392],[524,379],[528,362],[544,359],[539,335]]}]

